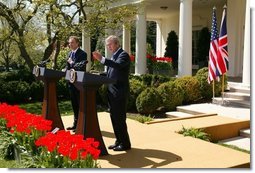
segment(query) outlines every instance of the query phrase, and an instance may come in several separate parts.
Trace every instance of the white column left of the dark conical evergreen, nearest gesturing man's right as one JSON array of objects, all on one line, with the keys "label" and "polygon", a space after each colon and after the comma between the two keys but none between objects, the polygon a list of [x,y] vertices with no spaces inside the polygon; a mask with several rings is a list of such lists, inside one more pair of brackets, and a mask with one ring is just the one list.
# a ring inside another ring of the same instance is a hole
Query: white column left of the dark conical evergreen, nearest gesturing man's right
[{"label": "white column left of the dark conical evergreen, nearest gesturing man's right", "polygon": [[136,16],[135,74],[146,73],[146,17],[145,7],[140,7]]}]

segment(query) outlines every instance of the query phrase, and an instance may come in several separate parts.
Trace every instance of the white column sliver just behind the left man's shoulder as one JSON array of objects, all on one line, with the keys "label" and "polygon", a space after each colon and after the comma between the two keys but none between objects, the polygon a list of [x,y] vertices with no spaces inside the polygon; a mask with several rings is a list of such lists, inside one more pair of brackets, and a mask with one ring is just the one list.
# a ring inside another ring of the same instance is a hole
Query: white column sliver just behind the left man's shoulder
[{"label": "white column sliver just behind the left man's shoulder", "polygon": [[88,63],[86,65],[86,71],[90,71],[91,69],[91,45],[90,45],[90,37],[85,35],[84,30],[82,31],[82,49],[87,53]]}]

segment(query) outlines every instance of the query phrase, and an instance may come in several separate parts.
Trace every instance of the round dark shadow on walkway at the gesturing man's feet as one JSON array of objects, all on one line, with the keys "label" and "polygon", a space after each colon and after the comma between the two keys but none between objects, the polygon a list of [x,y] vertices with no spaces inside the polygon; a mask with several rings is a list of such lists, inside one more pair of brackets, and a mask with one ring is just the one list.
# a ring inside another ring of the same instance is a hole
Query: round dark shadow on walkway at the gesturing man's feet
[{"label": "round dark shadow on walkway at the gesturing man's feet", "polygon": [[120,168],[158,168],[182,160],[180,156],[170,152],[140,148],[132,148],[125,153],[102,156],[100,159],[107,160],[110,164]]}]

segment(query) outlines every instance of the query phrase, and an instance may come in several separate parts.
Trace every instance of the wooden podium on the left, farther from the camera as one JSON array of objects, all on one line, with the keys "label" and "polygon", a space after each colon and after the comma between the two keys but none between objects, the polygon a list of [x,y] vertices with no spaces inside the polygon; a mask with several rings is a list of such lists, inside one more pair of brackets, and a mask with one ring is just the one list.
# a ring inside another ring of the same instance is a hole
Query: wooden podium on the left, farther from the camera
[{"label": "wooden podium on the left, farther from the camera", "polygon": [[65,72],[46,69],[45,67],[36,66],[33,69],[36,79],[44,82],[44,96],[42,106],[42,116],[52,121],[52,130],[58,127],[64,129],[64,125],[59,113],[56,83],[65,76]]}]

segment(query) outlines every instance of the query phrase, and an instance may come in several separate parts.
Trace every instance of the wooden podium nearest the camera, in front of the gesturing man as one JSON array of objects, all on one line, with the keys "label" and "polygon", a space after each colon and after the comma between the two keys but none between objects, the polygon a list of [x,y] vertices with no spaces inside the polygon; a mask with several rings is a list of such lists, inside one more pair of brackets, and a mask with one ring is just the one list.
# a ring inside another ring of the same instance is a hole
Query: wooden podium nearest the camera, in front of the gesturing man
[{"label": "wooden podium nearest the camera, in front of the gesturing man", "polygon": [[82,134],[84,138],[94,138],[99,142],[100,155],[108,155],[98,123],[96,91],[101,85],[114,83],[115,80],[74,70],[67,70],[65,79],[74,83],[80,91],[80,109],[76,134]]}]

